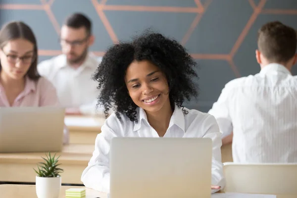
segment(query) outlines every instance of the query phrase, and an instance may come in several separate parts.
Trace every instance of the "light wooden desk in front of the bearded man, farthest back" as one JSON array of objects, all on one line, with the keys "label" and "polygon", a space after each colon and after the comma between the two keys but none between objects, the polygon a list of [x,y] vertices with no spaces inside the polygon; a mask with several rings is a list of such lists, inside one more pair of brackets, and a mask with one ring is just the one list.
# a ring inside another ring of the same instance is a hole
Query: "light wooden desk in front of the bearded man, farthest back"
[{"label": "light wooden desk in front of the bearded man, farthest back", "polygon": [[105,122],[103,116],[65,116],[65,124],[69,129],[70,144],[92,144],[101,133]]}]

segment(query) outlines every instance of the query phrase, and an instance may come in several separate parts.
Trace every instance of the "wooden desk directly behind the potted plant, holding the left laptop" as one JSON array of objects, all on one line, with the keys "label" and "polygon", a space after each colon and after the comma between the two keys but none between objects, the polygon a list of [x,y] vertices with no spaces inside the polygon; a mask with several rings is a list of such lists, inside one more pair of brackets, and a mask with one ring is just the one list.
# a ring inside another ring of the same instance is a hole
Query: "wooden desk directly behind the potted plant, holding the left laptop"
[{"label": "wooden desk directly behind the potted plant, holding the left laptop", "polygon": [[[64,172],[62,183],[82,184],[80,181],[83,170],[92,157],[94,145],[65,146],[58,155]],[[35,182],[37,163],[42,162],[43,152],[0,153],[0,181],[4,182]]]}]

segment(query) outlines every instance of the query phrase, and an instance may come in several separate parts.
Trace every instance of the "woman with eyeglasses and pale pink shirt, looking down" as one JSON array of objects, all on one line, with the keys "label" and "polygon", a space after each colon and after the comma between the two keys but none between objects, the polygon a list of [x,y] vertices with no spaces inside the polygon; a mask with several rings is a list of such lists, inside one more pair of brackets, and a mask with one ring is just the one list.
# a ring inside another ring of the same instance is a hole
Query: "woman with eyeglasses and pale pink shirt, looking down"
[{"label": "woman with eyeglasses and pale pink shirt, looking down", "polygon": [[[23,22],[0,30],[0,106],[57,106],[53,85],[37,72],[37,42]],[[64,143],[68,142],[64,130]]]}]

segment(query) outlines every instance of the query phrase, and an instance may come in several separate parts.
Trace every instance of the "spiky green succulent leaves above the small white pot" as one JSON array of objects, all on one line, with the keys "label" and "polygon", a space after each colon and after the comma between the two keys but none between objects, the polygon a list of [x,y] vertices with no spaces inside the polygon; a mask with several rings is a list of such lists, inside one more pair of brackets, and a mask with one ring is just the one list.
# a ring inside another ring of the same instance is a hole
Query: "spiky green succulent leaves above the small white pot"
[{"label": "spiky green succulent leaves above the small white pot", "polygon": [[37,165],[38,171],[33,168],[39,177],[60,177],[59,174],[63,172],[63,169],[57,168],[60,165],[57,164],[60,156],[55,158],[55,155],[52,157],[49,152],[49,155],[46,154],[47,159],[42,157],[45,162],[39,162],[40,165]]}]

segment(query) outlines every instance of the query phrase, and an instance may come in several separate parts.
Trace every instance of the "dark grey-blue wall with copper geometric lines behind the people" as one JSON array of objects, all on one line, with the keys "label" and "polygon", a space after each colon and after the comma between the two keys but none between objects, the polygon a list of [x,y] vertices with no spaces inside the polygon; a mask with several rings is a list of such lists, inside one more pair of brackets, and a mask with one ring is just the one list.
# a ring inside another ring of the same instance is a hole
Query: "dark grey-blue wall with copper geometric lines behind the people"
[{"label": "dark grey-blue wall with copper geometric lines behind the people", "polygon": [[[118,40],[147,28],[180,41],[199,64],[200,96],[186,106],[207,111],[224,85],[259,72],[257,29],[273,20],[297,29],[297,0],[1,0],[0,25],[23,20],[34,30],[39,60],[60,53],[58,31],[75,11],[93,22],[102,55]],[[296,68],[296,67],[295,67]],[[294,69],[294,74],[297,69]]]}]

